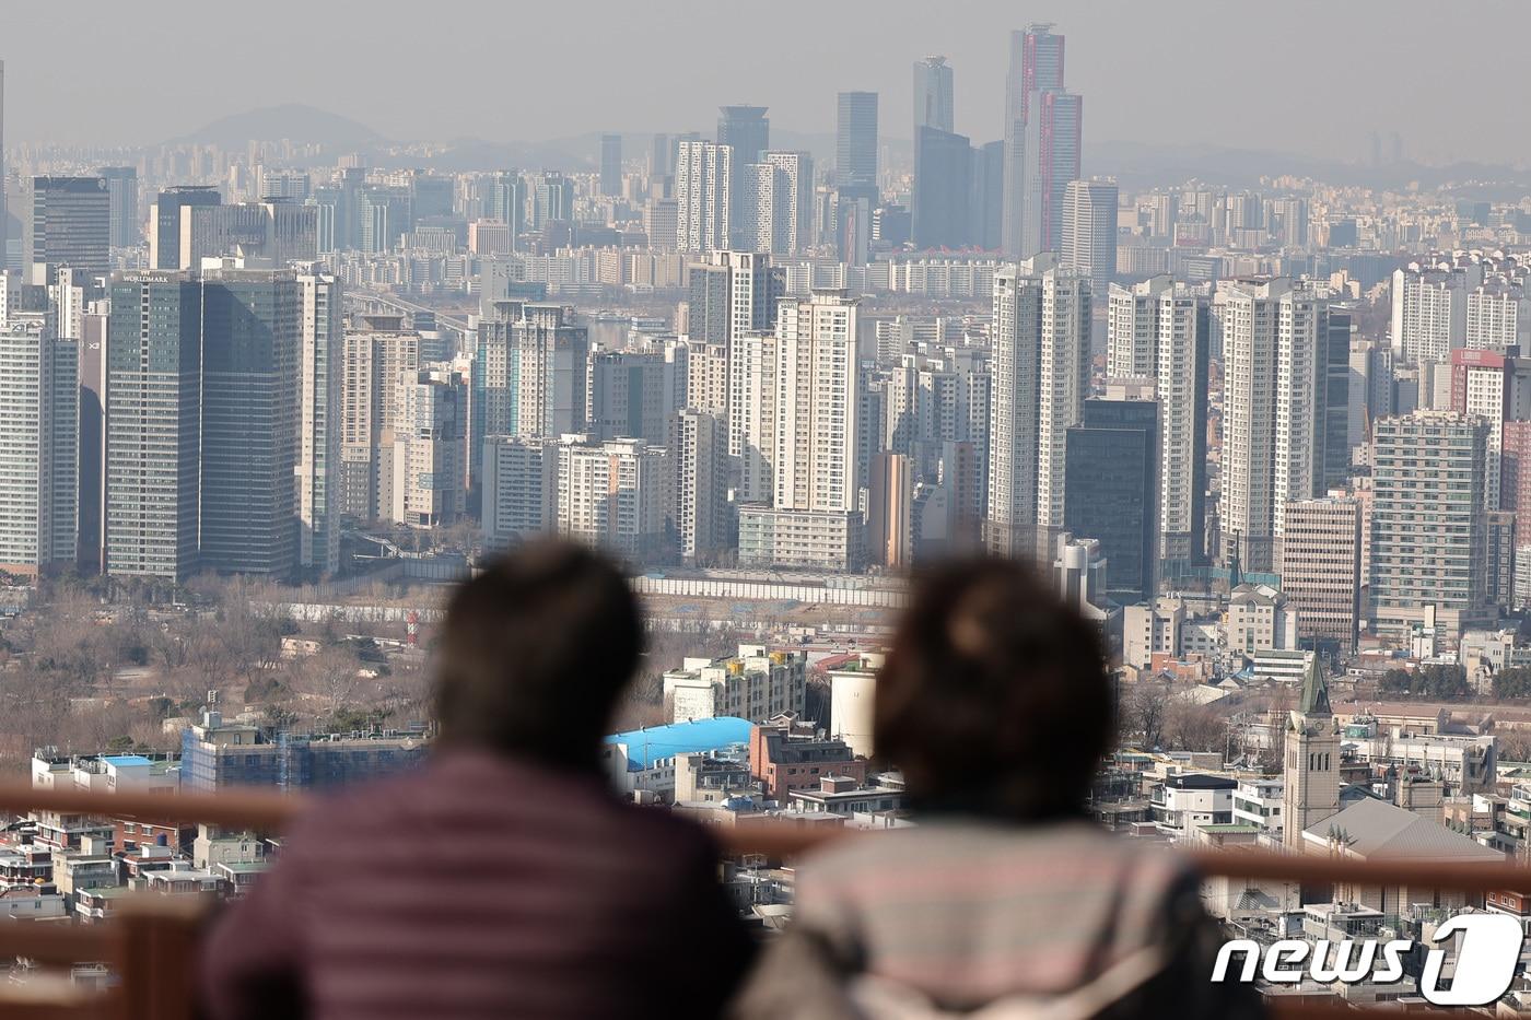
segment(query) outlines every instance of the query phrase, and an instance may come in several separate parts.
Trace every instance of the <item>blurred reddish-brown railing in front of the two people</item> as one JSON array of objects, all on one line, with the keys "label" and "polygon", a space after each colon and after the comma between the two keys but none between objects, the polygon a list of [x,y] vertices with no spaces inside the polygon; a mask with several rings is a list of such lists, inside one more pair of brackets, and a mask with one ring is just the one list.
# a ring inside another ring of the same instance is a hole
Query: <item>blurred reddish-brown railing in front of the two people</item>
[{"label": "blurred reddish-brown railing in front of the two people", "polygon": [[[210,822],[228,829],[279,832],[306,806],[303,796],[259,790],[217,795],[90,793],[73,789],[38,790],[0,784],[0,813],[54,810],[100,818],[158,822]],[[792,858],[830,839],[876,839],[876,833],[845,833],[821,827],[747,824],[718,829],[724,855]],[[1304,885],[1358,884],[1447,888],[1467,893],[1531,890],[1531,867],[1519,864],[1445,864],[1358,861],[1271,853],[1265,850],[1180,852],[1205,875],[1269,879]],[[139,896],[118,901],[112,920],[100,925],[0,922],[0,960],[20,956],[38,965],[104,963],[121,980],[103,994],[80,994],[67,982],[0,985],[5,1020],[191,1020],[191,969],[204,917],[201,901]],[[43,995],[37,994],[44,992]],[[28,995],[31,994],[31,999]],[[1431,1015],[1471,1015],[1425,1011]],[[1352,1009],[1343,1005],[1272,1003],[1278,1020],[1356,1020],[1395,1017],[1396,1011]],[[1415,1015],[1410,1011],[1410,1015]],[[1503,1014],[1499,1014],[1503,1015]],[[1526,1014],[1531,1015],[1531,1014]]]}]

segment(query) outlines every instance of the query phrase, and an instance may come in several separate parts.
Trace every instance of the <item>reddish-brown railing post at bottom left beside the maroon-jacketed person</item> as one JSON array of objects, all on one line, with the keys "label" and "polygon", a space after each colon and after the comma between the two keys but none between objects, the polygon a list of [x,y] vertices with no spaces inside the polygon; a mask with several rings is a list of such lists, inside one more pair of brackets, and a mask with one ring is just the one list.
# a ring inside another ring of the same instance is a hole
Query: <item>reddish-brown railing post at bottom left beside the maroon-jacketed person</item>
[{"label": "reddish-brown railing post at bottom left beside the maroon-jacketed person", "polygon": [[191,1020],[201,917],[199,899],[122,901],[115,920],[122,940],[121,1020]]}]

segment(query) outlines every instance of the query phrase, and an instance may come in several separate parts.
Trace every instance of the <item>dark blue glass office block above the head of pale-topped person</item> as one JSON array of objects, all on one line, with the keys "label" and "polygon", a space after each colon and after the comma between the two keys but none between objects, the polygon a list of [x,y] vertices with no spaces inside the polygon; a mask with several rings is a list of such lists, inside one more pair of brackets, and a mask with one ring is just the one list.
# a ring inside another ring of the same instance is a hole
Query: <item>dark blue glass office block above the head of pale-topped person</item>
[{"label": "dark blue glass office block above the head of pale-topped person", "polygon": [[1064,527],[1096,539],[1105,594],[1121,605],[1153,599],[1159,561],[1159,406],[1085,400],[1066,430]]}]

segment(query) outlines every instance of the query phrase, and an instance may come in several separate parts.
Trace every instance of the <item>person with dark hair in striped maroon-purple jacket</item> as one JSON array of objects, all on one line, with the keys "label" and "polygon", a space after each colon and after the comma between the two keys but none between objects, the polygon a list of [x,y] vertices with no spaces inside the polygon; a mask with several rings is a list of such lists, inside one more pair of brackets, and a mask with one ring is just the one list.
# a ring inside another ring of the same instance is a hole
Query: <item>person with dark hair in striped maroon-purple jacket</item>
[{"label": "person with dark hair in striped maroon-purple jacket", "polygon": [[623,576],[574,545],[461,585],[435,754],[305,815],[211,933],[205,1014],[717,1015],[752,942],[715,850],[622,804],[600,764],[641,643]]}]

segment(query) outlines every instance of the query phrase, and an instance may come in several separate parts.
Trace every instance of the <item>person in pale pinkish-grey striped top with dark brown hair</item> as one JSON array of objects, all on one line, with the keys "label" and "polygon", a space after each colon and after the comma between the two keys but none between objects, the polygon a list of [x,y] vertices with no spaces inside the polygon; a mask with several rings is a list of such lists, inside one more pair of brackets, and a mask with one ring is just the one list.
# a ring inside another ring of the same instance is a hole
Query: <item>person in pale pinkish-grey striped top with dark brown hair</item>
[{"label": "person in pale pinkish-grey striped top with dark brown hair", "polygon": [[802,859],[793,927],[735,1014],[1260,1015],[1252,989],[1209,980],[1197,876],[1085,815],[1112,700],[1098,629],[1024,567],[917,577],[873,717],[917,825]]}]

